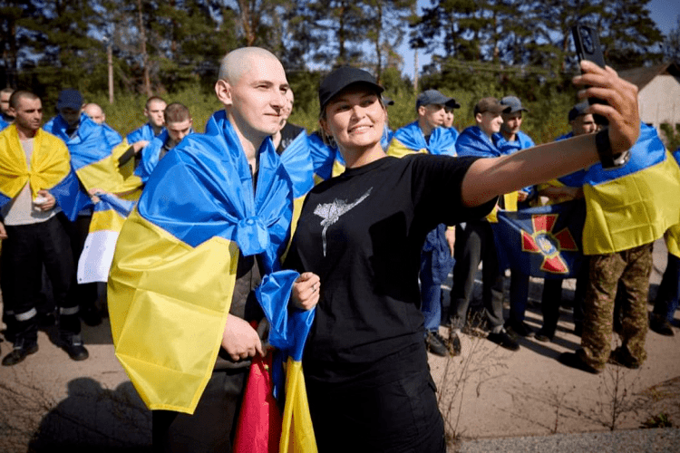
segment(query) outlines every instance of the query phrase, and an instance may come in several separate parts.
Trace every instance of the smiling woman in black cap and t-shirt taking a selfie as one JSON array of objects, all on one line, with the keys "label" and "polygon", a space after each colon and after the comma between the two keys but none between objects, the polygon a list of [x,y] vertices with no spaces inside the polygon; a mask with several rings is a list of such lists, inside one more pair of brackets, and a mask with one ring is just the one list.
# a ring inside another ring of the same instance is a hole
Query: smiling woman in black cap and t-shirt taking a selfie
[{"label": "smiling woman in black cap and t-shirt taking a selfie", "polygon": [[419,310],[423,240],[440,223],[485,216],[499,194],[633,145],[636,88],[612,70],[582,69],[574,82],[594,87],[582,97],[609,103],[591,107],[608,118],[608,136],[598,146],[583,136],[495,159],[387,157],[383,88],[349,67],[321,82],[320,125],[346,170],[308,194],[286,263],[303,274],[293,304],[316,305],[303,367],[320,452],[446,451]]}]

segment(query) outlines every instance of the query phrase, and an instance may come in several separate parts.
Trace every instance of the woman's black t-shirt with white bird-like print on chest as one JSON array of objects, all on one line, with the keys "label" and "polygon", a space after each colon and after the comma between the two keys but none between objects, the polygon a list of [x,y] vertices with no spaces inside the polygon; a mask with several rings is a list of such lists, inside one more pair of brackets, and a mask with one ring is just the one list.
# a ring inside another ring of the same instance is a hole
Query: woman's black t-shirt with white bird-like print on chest
[{"label": "woman's black t-shirt with white bird-like print on chest", "polygon": [[418,268],[427,232],[483,217],[495,203],[462,206],[461,181],[474,160],[386,157],[307,195],[286,262],[321,278],[307,377],[352,379],[357,367],[422,344]]}]

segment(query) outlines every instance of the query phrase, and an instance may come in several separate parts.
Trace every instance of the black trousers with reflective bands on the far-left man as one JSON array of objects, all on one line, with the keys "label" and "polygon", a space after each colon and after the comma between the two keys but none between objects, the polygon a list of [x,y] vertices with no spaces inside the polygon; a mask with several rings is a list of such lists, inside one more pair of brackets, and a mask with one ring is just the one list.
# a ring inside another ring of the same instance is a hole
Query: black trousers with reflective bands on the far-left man
[{"label": "black trousers with reflective bands on the far-left man", "polygon": [[36,306],[43,301],[43,265],[52,284],[54,304],[66,311],[60,316],[60,329],[63,333],[80,333],[80,321],[73,319],[77,319],[77,314],[71,310],[77,304],[67,297],[74,267],[64,222],[68,219],[57,215],[37,224],[5,226],[7,238],[0,255],[3,268],[0,287],[7,311],[15,317],[12,324],[17,339],[32,342],[37,338],[35,315]]}]

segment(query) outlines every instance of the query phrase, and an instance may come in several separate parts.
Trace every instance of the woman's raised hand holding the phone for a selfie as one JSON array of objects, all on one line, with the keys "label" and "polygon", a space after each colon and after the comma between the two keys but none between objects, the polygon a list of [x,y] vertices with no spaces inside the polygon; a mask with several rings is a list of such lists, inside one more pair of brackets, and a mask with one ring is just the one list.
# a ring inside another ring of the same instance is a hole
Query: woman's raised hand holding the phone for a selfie
[{"label": "woman's raised hand holding the phone for a selfie", "polygon": [[597,113],[609,120],[609,141],[612,155],[625,152],[636,142],[640,133],[640,113],[637,111],[637,87],[620,79],[617,72],[607,66],[582,61],[582,75],[574,78],[575,85],[590,85],[578,92],[580,99],[596,97],[607,101],[593,104],[588,113]]}]

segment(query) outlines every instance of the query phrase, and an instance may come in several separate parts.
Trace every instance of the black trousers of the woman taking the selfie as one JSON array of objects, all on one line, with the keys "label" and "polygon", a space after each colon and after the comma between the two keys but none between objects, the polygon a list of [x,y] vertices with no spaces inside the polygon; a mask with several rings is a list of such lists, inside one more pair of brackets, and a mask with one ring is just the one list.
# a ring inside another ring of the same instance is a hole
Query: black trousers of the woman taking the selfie
[{"label": "black trousers of the woman taking the selfie", "polygon": [[319,452],[446,451],[422,342],[374,363],[366,374],[371,377],[342,384],[306,379]]}]

